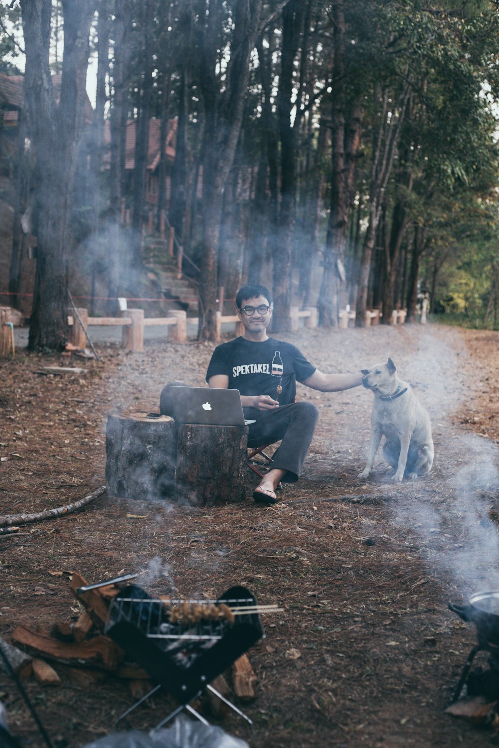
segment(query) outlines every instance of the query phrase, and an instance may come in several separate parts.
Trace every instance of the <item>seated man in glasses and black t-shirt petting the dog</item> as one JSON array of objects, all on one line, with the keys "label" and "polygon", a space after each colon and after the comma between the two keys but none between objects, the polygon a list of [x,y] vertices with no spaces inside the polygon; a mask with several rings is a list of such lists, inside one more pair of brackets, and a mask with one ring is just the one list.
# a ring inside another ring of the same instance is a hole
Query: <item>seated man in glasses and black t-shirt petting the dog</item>
[{"label": "seated man in glasses and black t-shirt petting the dog", "polygon": [[253,492],[257,503],[275,504],[279,483],[299,479],[313,439],[319,410],[311,402],[293,402],[296,381],[319,392],[358,387],[363,375],[323,374],[292,343],[267,335],[272,319],[272,295],[265,286],[242,286],[236,307],[242,337],[217,346],[209,361],[209,387],[239,390],[249,426],[248,447],[281,441],[272,470]]}]

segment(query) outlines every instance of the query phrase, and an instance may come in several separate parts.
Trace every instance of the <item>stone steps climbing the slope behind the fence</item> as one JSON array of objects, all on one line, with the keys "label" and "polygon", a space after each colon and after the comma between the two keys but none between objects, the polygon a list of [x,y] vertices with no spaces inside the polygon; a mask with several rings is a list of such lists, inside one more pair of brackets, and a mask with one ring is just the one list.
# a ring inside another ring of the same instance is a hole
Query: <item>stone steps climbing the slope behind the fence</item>
[{"label": "stone steps climbing the slope behind the fence", "polygon": [[147,239],[143,260],[147,277],[165,298],[167,310],[180,309],[188,317],[198,316],[198,288],[185,276],[177,278],[177,263],[168,254],[168,242],[157,237]]}]

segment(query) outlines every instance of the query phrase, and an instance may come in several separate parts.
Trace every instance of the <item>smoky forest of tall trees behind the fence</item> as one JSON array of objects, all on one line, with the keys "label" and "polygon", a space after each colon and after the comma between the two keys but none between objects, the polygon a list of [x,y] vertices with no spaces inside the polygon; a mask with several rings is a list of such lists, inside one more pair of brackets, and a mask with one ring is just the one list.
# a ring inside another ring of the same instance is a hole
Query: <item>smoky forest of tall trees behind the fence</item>
[{"label": "smoky forest of tall trees behind the fence", "polygon": [[491,0],[4,0],[1,72],[25,76],[9,298],[29,215],[29,346],[67,338],[76,260],[94,313],[103,284],[110,309],[137,295],[144,224],[159,232],[162,215],[198,288],[201,340],[215,338],[218,288],[246,281],[272,289],[275,330],[296,303],[325,326],[346,304],[357,325],[372,307],[414,322],[423,295],[446,319],[498,329],[498,31]]}]

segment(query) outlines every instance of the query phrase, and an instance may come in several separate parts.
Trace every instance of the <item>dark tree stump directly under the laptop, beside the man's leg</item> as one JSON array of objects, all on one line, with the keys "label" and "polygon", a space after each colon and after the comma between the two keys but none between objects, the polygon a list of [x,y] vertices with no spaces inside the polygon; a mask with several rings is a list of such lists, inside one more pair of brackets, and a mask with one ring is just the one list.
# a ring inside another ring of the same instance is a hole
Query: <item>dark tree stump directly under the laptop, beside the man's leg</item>
[{"label": "dark tree stump directly under the laptop, beside the man's leg", "polygon": [[245,497],[248,426],[180,426],[175,484],[177,500],[212,506]]}]

